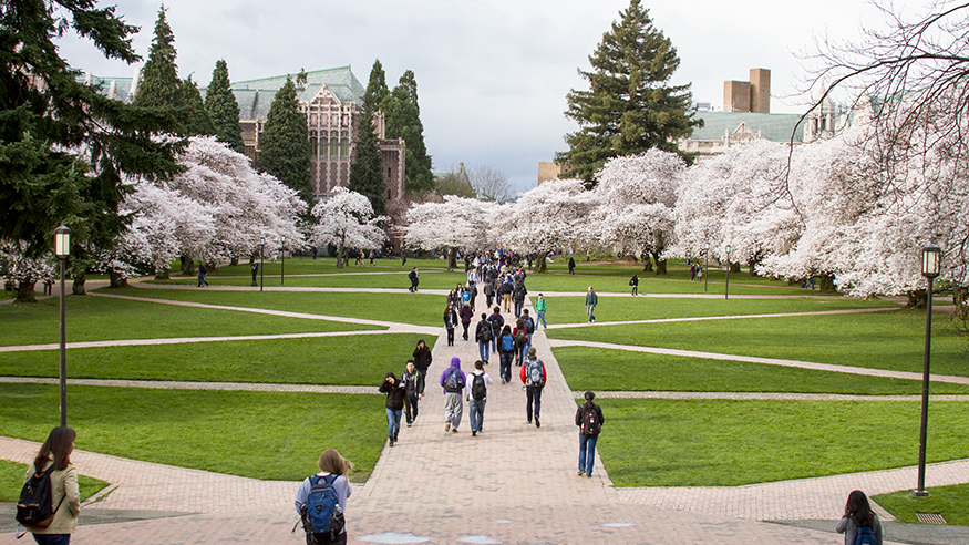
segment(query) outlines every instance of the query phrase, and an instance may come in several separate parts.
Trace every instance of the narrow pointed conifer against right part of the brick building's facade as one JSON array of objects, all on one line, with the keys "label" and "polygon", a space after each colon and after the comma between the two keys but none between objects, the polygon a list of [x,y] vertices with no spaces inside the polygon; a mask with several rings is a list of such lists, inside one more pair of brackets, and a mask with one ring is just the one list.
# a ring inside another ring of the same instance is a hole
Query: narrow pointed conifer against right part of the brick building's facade
[{"label": "narrow pointed conifer against right part of the brick building's facade", "polygon": [[350,165],[348,189],[365,195],[373,206],[373,213],[386,213],[386,182],[383,161],[380,158],[380,144],[373,131],[373,119],[389,92],[380,60],[373,63],[370,82],[363,93],[363,109],[357,116],[357,142],[353,145],[353,163]]}]

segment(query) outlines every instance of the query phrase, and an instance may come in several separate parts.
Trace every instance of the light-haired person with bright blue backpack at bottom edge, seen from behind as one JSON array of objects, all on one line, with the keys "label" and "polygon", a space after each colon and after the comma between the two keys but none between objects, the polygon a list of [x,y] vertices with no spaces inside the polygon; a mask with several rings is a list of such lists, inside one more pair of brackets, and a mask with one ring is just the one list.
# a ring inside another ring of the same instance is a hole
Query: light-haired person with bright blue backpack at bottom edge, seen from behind
[{"label": "light-haired person with bright blue backpack at bottom edge, seen from behind", "polygon": [[[341,456],[336,449],[327,449],[320,454],[317,466],[320,472],[306,477],[296,491],[296,512],[299,513],[302,527],[307,533],[306,543],[307,545],[347,545],[347,526],[343,514],[347,513],[347,498],[353,494],[353,486],[347,479],[353,464]],[[327,522],[331,518],[329,513],[324,512],[326,510],[320,510],[317,516],[313,516],[309,510],[310,506],[326,504],[326,502],[320,502],[323,496],[321,492],[326,489],[332,489],[337,495],[337,505],[333,512],[338,513],[338,527],[333,527],[332,522]],[[312,521],[316,522],[309,524]],[[317,529],[323,529],[323,532],[316,532]]]}]

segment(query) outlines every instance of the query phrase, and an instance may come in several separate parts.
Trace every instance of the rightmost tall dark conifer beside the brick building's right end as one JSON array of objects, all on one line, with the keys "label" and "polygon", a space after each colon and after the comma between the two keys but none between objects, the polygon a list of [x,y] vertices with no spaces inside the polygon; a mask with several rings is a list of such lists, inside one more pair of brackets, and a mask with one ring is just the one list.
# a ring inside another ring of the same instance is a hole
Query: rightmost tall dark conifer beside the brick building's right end
[{"label": "rightmost tall dark conifer beside the brick building's right end", "polygon": [[403,138],[406,145],[404,188],[427,192],[434,188],[431,157],[424,146],[424,125],[418,105],[418,82],[410,70],[401,76],[398,86],[384,100],[386,137]]}]

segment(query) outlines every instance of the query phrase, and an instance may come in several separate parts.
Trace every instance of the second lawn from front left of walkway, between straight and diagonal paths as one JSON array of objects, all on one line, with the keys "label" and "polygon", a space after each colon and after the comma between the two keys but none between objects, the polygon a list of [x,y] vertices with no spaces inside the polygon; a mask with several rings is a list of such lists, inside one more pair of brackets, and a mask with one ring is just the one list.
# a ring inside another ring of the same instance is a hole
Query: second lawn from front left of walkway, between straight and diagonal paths
[{"label": "second lawn from front left of walkway, between straight and diagonal paths", "polygon": [[[416,335],[341,336],[259,341],[72,348],[72,379],[185,380],[379,385],[400,373]],[[435,337],[424,338],[434,346]],[[58,377],[60,352],[0,352],[0,376]]]}]

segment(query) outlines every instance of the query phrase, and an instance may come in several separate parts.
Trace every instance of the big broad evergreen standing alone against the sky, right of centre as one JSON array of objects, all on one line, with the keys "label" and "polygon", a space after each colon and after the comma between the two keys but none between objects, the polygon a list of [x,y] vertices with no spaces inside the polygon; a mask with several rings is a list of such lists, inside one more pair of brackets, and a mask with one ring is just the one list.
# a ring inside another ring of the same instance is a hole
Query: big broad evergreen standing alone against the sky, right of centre
[{"label": "big broad evergreen standing alone against the sky, right of centre", "polygon": [[640,0],[619,13],[610,32],[589,55],[592,70],[579,71],[588,91],[571,90],[567,117],[579,131],[566,135],[567,152],[556,161],[570,166],[564,177],[578,177],[594,185],[596,172],[609,158],[637,155],[650,148],[680,154],[676,141],[688,137],[702,120],[689,112],[690,85],[669,85],[680,65],[677,50],[649,18]]}]

